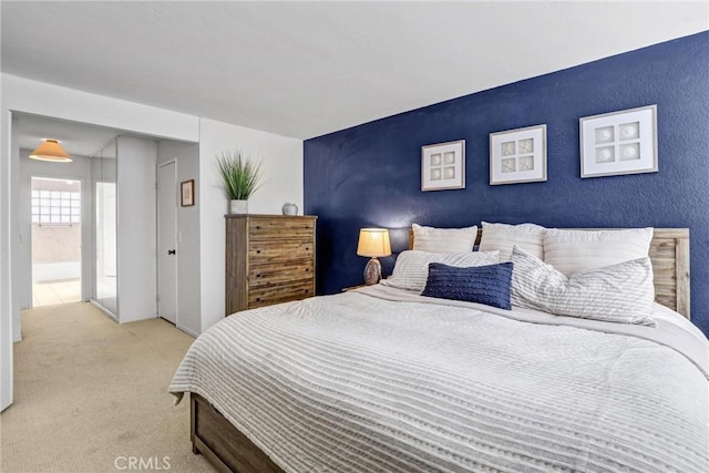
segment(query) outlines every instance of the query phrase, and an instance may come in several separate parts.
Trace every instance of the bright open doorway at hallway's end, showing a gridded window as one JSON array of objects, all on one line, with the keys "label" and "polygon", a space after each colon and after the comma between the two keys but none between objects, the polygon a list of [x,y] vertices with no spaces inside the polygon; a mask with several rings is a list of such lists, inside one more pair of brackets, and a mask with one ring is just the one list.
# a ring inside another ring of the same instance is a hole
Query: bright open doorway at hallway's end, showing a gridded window
[{"label": "bright open doorway at hallway's end, showing a gridded window", "polygon": [[81,181],[32,177],[32,307],[79,302]]}]

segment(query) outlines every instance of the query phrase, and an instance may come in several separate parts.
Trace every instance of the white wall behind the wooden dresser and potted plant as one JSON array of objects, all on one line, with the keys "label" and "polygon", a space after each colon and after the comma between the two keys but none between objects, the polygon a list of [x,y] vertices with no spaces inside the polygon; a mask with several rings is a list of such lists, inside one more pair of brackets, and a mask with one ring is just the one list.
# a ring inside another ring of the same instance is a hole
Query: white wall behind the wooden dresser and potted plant
[{"label": "white wall behind the wooden dresser and potted plant", "polygon": [[240,150],[261,160],[265,184],[248,203],[250,214],[281,214],[287,202],[302,210],[302,141],[228,123],[201,119],[199,178],[202,205],[202,331],[224,318],[225,235],[227,200],[222,192],[215,156]]}]

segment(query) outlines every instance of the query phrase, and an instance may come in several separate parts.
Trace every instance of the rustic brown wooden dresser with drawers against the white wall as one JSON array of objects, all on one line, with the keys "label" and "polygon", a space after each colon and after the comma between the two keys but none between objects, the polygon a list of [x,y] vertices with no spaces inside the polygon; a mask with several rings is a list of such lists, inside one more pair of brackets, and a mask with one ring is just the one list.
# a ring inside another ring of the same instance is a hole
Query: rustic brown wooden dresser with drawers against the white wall
[{"label": "rustic brown wooden dresser with drawers against the white wall", "polygon": [[226,315],[315,296],[317,217],[226,216]]}]

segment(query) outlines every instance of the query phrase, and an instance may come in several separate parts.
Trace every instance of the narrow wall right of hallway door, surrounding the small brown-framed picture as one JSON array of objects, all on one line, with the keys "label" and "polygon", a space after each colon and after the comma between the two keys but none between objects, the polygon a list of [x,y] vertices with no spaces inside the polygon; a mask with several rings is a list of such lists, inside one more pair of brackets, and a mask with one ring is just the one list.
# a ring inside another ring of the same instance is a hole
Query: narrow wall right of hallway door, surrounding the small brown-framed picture
[{"label": "narrow wall right of hallway door, surrounding the small brown-framed picture", "polygon": [[[199,195],[199,145],[161,141],[157,143],[157,162],[175,160],[177,186],[183,181],[195,179],[195,195]],[[175,189],[178,194],[178,189]],[[202,199],[195,205],[177,206],[177,320],[178,329],[197,336],[201,331],[199,281],[199,213]]]}]

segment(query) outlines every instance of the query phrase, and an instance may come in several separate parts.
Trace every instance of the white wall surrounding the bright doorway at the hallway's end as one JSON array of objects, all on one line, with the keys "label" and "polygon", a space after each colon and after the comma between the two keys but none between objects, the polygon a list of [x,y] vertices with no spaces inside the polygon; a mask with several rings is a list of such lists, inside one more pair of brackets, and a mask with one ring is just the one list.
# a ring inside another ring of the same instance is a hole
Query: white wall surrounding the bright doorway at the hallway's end
[{"label": "white wall surrounding the bright doorway at the hallway's end", "polygon": [[[20,150],[19,225],[20,245],[18,255],[20,308],[32,307],[32,177],[56,177],[81,181],[81,286],[82,295],[91,294],[91,158],[72,155],[71,163],[49,163],[30,160],[31,150]],[[20,326],[14,327],[14,340],[21,339]]]}]

